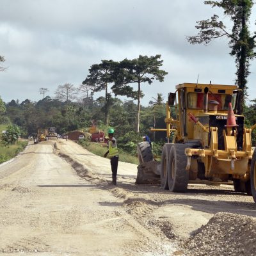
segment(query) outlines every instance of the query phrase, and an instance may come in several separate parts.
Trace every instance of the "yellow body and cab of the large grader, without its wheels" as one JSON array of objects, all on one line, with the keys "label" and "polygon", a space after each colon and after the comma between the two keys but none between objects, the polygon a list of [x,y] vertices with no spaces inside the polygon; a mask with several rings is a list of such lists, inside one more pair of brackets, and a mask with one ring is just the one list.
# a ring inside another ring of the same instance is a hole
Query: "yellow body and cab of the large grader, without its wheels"
[{"label": "yellow body and cab of the large grader, without its wheels", "polygon": [[[255,127],[246,129],[243,115],[235,115],[237,126],[226,125],[228,104],[236,111],[238,93],[235,85],[178,84],[172,93],[175,103],[166,102],[166,129],[151,129],[165,131],[168,142],[192,145],[184,152],[189,182],[250,179],[251,132]],[[175,116],[171,116],[172,108]]]}]

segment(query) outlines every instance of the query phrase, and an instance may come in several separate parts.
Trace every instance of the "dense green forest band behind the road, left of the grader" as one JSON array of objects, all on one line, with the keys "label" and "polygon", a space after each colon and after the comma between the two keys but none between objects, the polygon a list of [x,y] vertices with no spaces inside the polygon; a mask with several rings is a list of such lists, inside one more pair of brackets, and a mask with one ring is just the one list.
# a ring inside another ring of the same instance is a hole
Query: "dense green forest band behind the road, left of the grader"
[{"label": "dense green forest band behind the road, left of the grader", "polygon": [[[157,107],[152,105],[141,107],[139,134],[134,131],[137,106],[133,100],[122,101],[113,98],[113,103],[109,108],[109,125],[104,124],[104,105],[104,97],[93,99],[92,95],[81,102],[62,102],[58,99],[51,99],[49,96],[38,102],[26,99],[20,103],[11,100],[6,103],[6,112],[3,117],[9,119],[10,123],[19,125],[24,137],[35,134],[40,127],[56,127],[58,133],[62,134],[74,130],[85,131],[92,124],[96,124],[98,129],[103,131],[107,131],[109,126],[114,127],[115,136],[127,138],[125,141],[129,140],[134,144],[141,141],[141,136],[144,134],[151,135],[153,139],[149,127],[165,127],[163,103]],[[156,139],[164,138],[164,136],[164,132],[159,133]]]}]

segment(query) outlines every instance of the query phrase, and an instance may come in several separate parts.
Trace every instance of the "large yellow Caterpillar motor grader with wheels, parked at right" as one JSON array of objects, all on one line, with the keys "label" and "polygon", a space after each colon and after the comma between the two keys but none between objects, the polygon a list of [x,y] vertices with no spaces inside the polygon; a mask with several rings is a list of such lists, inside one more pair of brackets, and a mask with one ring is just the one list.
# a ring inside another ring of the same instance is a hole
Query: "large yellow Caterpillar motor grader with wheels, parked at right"
[{"label": "large yellow Caterpillar motor grader with wheels, parked at right", "polygon": [[[256,152],[251,140],[256,125],[244,127],[244,116],[236,115],[237,106],[235,85],[183,83],[169,93],[166,129],[151,129],[166,132],[168,140],[158,167],[162,188],[185,192],[188,183],[232,180],[235,191],[252,195],[256,202]],[[157,168],[147,142],[139,143],[138,156],[140,163]],[[138,172],[138,183],[141,175]]]}]

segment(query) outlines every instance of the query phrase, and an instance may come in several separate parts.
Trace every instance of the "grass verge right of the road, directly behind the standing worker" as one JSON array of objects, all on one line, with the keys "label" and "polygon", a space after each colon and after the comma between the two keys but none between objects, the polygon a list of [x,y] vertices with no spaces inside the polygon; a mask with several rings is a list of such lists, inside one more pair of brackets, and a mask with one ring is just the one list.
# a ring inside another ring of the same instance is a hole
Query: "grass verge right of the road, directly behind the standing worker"
[{"label": "grass verge right of the road, directly behind the standing worker", "polygon": [[[108,151],[106,144],[93,143],[85,140],[79,141],[79,144],[97,156],[103,157],[104,154]],[[139,164],[137,156],[132,156],[131,154],[124,152],[122,148],[118,148],[118,150],[119,161],[131,164]]]}]

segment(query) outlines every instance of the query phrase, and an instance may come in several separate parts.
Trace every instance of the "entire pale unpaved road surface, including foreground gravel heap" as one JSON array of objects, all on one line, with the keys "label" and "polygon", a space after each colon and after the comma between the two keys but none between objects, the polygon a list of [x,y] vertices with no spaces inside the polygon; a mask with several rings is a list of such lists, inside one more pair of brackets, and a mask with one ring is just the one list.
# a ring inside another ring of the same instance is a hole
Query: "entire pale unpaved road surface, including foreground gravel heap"
[{"label": "entire pale unpaved road surface, including foreground gravel heap", "polygon": [[72,141],[29,145],[0,165],[0,255],[256,255],[251,196],[169,193],[134,184],[136,172],[119,163],[109,186],[109,159]]}]

